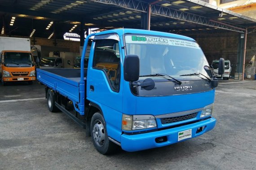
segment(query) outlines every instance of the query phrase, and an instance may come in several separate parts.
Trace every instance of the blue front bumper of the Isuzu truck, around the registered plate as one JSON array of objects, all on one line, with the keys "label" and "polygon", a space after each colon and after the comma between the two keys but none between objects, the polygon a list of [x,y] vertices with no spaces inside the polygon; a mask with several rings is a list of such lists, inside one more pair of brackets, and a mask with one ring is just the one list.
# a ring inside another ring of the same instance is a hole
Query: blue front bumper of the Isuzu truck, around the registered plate
[{"label": "blue front bumper of the Isuzu truck, around the registered plate", "polygon": [[[187,129],[192,129],[192,138],[193,138],[212,130],[215,127],[215,124],[216,124],[216,119],[210,118],[197,123],[192,123],[185,126],[174,127],[174,128],[165,129],[165,130],[159,130],[157,132],[149,132],[149,133],[137,134],[137,135],[122,134],[121,147],[122,149],[128,152],[162,147],[169,144],[177,143],[178,132],[185,131]],[[205,126],[203,131],[196,133],[197,129],[203,126]],[[167,141],[162,143],[156,143],[155,139],[162,136],[167,136]],[[181,141],[185,141],[185,140],[181,140]]]}]

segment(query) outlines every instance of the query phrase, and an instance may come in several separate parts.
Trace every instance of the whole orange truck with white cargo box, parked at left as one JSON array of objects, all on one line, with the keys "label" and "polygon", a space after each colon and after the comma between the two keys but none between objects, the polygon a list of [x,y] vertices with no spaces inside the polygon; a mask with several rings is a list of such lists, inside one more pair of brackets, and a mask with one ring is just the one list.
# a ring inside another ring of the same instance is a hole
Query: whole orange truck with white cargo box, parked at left
[{"label": "whole orange truck with white cargo box, parked at left", "polygon": [[3,85],[13,81],[35,80],[35,63],[29,38],[0,37],[0,79]]}]

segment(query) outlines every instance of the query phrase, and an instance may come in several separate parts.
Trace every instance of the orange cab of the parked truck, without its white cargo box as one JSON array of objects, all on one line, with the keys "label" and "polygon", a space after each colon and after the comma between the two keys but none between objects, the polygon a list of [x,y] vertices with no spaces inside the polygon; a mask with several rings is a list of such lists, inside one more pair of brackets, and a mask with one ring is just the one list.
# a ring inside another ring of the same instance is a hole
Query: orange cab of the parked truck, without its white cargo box
[{"label": "orange cab of the parked truck, without its white cargo box", "polygon": [[35,80],[35,64],[31,52],[1,51],[0,77],[3,85],[11,81],[28,81],[32,84]]}]

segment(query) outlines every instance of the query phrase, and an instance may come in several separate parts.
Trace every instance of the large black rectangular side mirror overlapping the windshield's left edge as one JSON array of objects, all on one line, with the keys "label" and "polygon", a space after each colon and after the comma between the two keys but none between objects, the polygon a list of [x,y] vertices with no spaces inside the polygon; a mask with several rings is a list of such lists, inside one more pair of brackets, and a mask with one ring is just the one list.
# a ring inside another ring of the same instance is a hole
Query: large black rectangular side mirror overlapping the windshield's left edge
[{"label": "large black rectangular side mirror overlapping the windshield's left edge", "polygon": [[124,80],[137,81],[140,76],[140,59],[138,55],[126,55],[124,58]]}]

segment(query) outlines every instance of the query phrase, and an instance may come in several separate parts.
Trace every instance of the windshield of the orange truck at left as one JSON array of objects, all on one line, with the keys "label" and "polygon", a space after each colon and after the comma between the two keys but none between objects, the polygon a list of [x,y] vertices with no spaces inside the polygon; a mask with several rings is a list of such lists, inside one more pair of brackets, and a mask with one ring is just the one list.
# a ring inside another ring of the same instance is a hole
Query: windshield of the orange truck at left
[{"label": "windshield of the orange truck at left", "polygon": [[5,52],[4,64],[32,64],[32,55],[27,52]]}]

